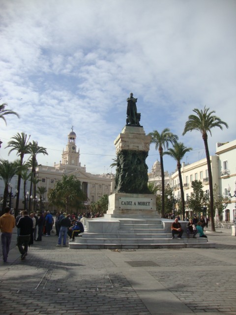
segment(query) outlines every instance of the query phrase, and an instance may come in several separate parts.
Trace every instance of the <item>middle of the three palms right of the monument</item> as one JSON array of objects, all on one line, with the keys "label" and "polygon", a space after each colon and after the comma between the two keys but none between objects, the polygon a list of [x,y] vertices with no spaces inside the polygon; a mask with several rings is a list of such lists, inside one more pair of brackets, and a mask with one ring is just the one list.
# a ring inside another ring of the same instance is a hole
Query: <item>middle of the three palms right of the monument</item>
[{"label": "middle of the three palms right of the monument", "polygon": [[182,142],[176,142],[176,143],[174,143],[173,148],[169,148],[167,152],[164,152],[164,155],[168,155],[177,161],[183,220],[184,220],[184,216],[185,216],[185,207],[184,207],[184,192],[183,192],[183,181],[182,181],[182,176],[181,176],[181,162],[180,161],[181,161],[181,159],[183,159],[185,153],[187,153],[191,150],[193,150],[193,149],[185,147]]}]

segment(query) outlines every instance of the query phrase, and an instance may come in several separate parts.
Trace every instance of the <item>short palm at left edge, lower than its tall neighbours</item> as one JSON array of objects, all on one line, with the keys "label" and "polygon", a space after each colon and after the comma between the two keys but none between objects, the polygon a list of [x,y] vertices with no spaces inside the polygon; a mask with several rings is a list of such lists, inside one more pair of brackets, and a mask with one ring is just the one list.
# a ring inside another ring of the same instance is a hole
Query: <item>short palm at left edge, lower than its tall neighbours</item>
[{"label": "short palm at left edge, lower than its tall neighbours", "polygon": [[18,172],[19,170],[19,160],[15,160],[14,162],[9,162],[5,159],[0,159],[0,177],[4,182],[4,193],[3,193],[3,204],[2,209],[5,209],[7,196],[8,196],[8,185],[12,177]]}]

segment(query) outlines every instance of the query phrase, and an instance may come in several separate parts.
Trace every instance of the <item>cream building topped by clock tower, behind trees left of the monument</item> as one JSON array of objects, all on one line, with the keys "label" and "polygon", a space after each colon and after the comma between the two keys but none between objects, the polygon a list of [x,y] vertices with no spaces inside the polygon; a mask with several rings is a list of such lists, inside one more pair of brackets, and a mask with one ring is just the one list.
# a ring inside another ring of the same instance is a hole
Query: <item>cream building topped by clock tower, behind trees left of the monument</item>
[{"label": "cream building topped by clock tower, behind trees left of the monument", "polygon": [[[30,172],[30,170],[29,170]],[[111,194],[112,183],[114,182],[113,174],[94,175],[86,171],[86,165],[82,166],[80,162],[80,150],[76,146],[76,134],[72,130],[68,134],[66,149],[62,152],[62,159],[54,166],[46,166],[39,164],[36,167],[36,178],[40,180],[36,187],[43,186],[46,189],[43,197],[44,208],[49,210],[57,210],[55,206],[48,202],[48,192],[53,189],[55,183],[62,178],[62,175],[75,175],[80,180],[82,190],[88,196],[86,205],[98,201],[104,194]],[[12,194],[15,194],[17,188],[18,177],[14,176],[11,180]],[[30,189],[30,181],[27,182],[26,190]],[[3,199],[4,183],[0,179],[0,200]],[[15,208],[16,198],[12,197],[11,206]],[[24,209],[24,190],[23,181],[21,181],[19,210]]]}]

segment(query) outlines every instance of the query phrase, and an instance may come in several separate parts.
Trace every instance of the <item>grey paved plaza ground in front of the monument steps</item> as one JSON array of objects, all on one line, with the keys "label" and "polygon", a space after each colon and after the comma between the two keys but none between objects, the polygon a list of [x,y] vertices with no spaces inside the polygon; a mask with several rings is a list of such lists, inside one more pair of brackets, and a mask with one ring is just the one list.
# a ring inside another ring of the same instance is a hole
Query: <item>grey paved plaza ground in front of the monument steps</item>
[{"label": "grey paved plaza ground in front of the monument steps", "polygon": [[236,237],[222,232],[207,232],[215,248],[146,250],[70,250],[52,234],[21,261],[14,231],[0,315],[236,315]]}]

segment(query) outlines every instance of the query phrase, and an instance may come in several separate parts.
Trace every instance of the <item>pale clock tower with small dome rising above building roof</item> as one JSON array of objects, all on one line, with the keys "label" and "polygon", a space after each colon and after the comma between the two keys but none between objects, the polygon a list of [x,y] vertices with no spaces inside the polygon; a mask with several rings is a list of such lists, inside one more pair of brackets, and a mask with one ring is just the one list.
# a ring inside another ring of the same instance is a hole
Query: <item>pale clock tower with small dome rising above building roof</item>
[{"label": "pale clock tower with small dome rising above building roof", "polygon": [[67,165],[80,165],[80,150],[76,151],[76,133],[73,131],[73,126],[70,133],[68,134],[68,143],[65,151],[62,152],[62,164]]}]

